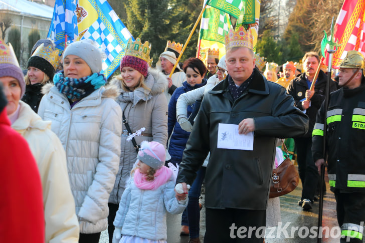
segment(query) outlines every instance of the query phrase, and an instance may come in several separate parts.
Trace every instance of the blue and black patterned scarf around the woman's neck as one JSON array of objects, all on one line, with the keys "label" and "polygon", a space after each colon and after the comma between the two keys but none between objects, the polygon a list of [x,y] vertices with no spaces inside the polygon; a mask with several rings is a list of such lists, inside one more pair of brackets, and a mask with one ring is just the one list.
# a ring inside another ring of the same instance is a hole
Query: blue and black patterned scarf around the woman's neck
[{"label": "blue and black patterned scarf around the woman's neck", "polygon": [[58,91],[70,100],[79,100],[104,86],[107,80],[101,73],[93,73],[80,79],[74,79],[65,77],[64,71],[61,71],[53,77],[53,83]]}]

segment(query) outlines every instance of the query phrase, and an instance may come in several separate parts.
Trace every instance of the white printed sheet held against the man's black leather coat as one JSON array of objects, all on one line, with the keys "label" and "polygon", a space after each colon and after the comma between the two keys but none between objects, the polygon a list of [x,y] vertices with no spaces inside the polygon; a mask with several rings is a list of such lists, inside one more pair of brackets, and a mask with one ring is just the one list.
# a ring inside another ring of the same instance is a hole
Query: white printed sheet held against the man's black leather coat
[{"label": "white printed sheet held against the man's black leather coat", "polygon": [[238,134],[238,125],[219,123],[218,125],[218,148],[253,150],[253,132],[247,135]]}]

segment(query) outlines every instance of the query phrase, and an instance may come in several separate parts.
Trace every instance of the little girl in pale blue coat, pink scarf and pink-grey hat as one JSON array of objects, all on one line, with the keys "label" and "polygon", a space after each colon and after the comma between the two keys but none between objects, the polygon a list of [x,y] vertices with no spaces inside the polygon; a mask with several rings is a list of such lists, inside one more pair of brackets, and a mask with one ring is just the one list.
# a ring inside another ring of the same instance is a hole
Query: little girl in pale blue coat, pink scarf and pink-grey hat
[{"label": "little girl in pale blue coat, pink scarf and pink-grey hat", "polygon": [[166,211],[181,213],[188,197],[180,201],[175,198],[175,177],[170,168],[163,166],[165,157],[162,144],[141,143],[114,219],[113,243],[166,242]]}]

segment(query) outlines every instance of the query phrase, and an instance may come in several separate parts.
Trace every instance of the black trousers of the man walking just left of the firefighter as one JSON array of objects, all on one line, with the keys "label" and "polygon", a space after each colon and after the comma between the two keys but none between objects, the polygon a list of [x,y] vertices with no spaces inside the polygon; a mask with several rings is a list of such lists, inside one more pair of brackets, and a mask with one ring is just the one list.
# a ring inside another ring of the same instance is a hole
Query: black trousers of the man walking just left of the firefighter
[{"label": "black trousers of the man walking just left of the firefighter", "polygon": [[294,138],[297,149],[298,172],[302,181],[302,200],[313,202],[318,183],[318,168],[312,156],[312,138]]}]

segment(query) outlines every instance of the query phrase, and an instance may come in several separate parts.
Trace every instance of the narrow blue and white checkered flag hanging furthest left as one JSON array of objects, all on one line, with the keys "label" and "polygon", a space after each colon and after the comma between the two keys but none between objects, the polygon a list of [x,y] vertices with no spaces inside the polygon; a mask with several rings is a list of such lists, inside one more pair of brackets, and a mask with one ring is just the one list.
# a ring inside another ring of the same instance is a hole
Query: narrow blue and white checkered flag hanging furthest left
[{"label": "narrow blue and white checkered flag hanging furthest left", "polygon": [[55,42],[60,55],[65,48],[65,37],[68,42],[77,39],[77,16],[75,15],[77,0],[56,0],[53,10],[53,18],[48,31],[48,38]]}]

